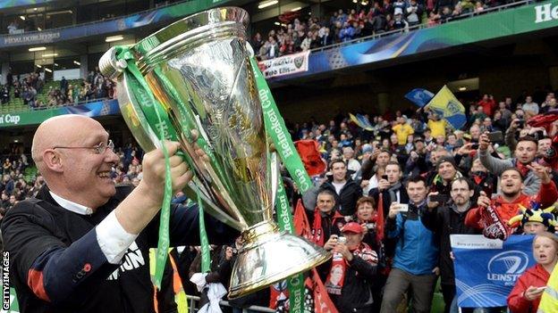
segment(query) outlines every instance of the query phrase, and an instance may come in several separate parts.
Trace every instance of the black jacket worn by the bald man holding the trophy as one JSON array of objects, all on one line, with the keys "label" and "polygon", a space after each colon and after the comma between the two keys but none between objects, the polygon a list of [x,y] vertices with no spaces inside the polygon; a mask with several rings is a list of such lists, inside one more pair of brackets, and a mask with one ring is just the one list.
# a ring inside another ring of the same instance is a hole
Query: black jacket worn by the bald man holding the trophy
[{"label": "black jacket worn by the bald man holding the trophy", "polygon": [[[114,197],[88,216],[60,207],[44,186],[37,198],[8,211],[2,234],[21,313],[154,311],[148,249],[157,245],[158,215],[139,233],[121,264],[108,263],[97,242],[96,226],[130,192],[129,186],[117,187]],[[214,243],[235,235],[207,218],[207,235]],[[199,244],[198,226],[197,208],[173,206],[170,245]]]}]

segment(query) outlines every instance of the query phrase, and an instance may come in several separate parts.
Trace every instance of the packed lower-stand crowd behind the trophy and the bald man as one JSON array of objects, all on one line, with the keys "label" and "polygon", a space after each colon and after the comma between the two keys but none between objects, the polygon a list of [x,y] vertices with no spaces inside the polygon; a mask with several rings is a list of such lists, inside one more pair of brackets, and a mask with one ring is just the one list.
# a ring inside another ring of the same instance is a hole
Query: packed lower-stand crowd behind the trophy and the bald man
[{"label": "packed lower-stand crowd behind the trophy and the bald man", "polygon": [[[432,111],[416,109],[367,115],[371,130],[359,128],[345,113],[328,123],[311,119],[290,125],[292,139],[317,141],[321,158],[328,164],[313,177],[315,185],[305,194],[293,192],[296,187],[286,173],[283,182],[292,204],[302,200],[311,227],[309,239],[333,254],[317,273],[340,312],[397,312],[403,301],[410,301],[417,312],[429,312],[438,276],[445,312],[456,311],[452,234],[498,238],[534,234],[537,249],[543,249],[539,248],[543,243],[550,246],[550,252],[535,254],[537,268],[521,276],[521,284],[508,299],[513,312],[529,307],[536,311],[542,292],[529,286],[529,276],[537,270],[548,279],[558,260],[558,239],[552,235],[548,216],[543,221],[529,217],[537,216],[533,201],[546,208],[558,199],[558,167],[549,153],[554,149],[558,121],[549,120],[542,127],[531,127],[526,121],[554,111],[556,99],[554,92],[538,90],[516,100],[498,100],[483,95],[470,103],[468,123],[461,129],[452,129]],[[487,135],[495,131],[502,136]],[[115,152],[120,162],[113,169],[114,181],[138,185],[142,152],[132,145]],[[44,184],[40,175],[34,181],[23,179],[28,162],[18,153],[5,159],[2,210],[10,210]],[[179,193],[173,202],[188,205],[189,200]],[[509,233],[486,231],[490,228],[484,218],[488,207],[498,211],[506,224],[521,213],[520,205],[530,213],[520,224],[506,228]],[[231,242],[231,246],[213,247],[212,270],[218,272],[224,263],[233,262],[242,243],[239,238]],[[189,268],[183,275],[198,273],[199,248],[187,247],[180,253],[189,255],[182,259]],[[184,284],[188,293],[196,293],[188,279]],[[242,305],[288,307],[282,303],[284,296],[274,299],[272,295],[270,302],[266,292],[255,293]],[[279,293],[284,295],[284,290]]]}]

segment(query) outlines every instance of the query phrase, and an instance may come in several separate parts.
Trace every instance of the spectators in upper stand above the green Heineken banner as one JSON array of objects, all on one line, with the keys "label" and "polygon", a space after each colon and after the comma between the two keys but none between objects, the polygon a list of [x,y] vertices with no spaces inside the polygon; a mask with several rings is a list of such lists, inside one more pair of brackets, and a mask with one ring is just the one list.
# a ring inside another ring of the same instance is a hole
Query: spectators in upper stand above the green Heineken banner
[{"label": "spectators in upper stand above the green Heineken banner", "polygon": [[[466,14],[484,12],[487,8],[513,1],[497,0],[383,0],[369,4],[354,4],[355,9],[339,9],[329,19],[291,12],[284,16],[283,25],[267,34],[257,32],[252,46],[261,60],[273,59],[285,54],[307,51],[382,34],[427,23],[434,26],[446,21],[463,18]],[[368,3],[368,2],[367,2]]]}]

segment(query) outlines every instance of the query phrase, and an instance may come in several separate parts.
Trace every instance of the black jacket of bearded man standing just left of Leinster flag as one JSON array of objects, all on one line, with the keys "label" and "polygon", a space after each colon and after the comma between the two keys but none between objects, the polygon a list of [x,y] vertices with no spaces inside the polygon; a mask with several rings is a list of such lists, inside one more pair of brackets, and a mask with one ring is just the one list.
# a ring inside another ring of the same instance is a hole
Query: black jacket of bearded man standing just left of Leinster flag
[{"label": "black jacket of bearded man standing just left of Leinster flag", "polygon": [[[469,208],[470,210],[470,208]],[[440,276],[442,284],[455,284],[455,273],[453,271],[453,261],[450,258],[452,247],[450,235],[478,235],[478,229],[465,226],[466,210],[458,213],[455,206],[438,207],[433,210],[424,210],[421,218],[422,224],[429,230],[435,232],[440,240]]]}]

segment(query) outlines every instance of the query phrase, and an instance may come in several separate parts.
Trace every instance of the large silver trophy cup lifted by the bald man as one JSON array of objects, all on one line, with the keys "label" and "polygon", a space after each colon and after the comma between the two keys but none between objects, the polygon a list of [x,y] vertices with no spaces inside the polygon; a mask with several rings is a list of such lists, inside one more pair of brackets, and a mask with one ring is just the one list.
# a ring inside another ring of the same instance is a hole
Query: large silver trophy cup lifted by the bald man
[{"label": "large silver trophy cup lifted by the bald man", "polygon": [[[229,298],[255,292],[325,262],[330,255],[304,238],[280,232],[273,218],[279,177],[272,161],[246,42],[248,13],[224,7],[199,12],[130,47],[156,103],[132,92],[137,79],[111,48],[99,62],[117,80],[126,124],[146,151],[157,134],[173,132],[190,156],[189,194],[204,210],[241,231],[244,246],[232,269]],[[159,125],[150,106],[170,120]],[[195,131],[198,136],[191,136]],[[195,141],[194,141],[195,139]],[[207,158],[193,158],[194,144]]]}]

